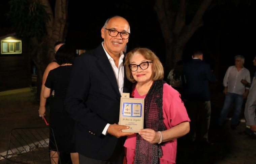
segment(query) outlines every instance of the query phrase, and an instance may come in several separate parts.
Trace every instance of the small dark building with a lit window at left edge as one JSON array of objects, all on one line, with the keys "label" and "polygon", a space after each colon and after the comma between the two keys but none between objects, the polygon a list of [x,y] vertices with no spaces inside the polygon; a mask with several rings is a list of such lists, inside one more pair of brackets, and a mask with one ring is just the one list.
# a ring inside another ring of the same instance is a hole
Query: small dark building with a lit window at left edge
[{"label": "small dark building with a lit window at left edge", "polygon": [[33,70],[28,40],[1,31],[0,42],[0,92],[30,87]]}]

